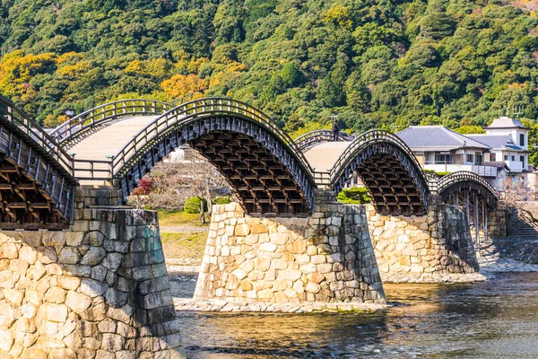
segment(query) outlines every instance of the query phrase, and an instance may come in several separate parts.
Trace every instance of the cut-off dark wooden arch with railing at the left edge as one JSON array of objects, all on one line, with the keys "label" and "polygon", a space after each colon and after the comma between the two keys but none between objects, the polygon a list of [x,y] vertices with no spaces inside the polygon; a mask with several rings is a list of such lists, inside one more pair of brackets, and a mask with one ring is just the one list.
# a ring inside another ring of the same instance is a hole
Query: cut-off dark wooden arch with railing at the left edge
[{"label": "cut-off dark wooden arch with railing at the left edge", "polygon": [[71,156],[0,97],[0,228],[67,228],[76,184]]}]

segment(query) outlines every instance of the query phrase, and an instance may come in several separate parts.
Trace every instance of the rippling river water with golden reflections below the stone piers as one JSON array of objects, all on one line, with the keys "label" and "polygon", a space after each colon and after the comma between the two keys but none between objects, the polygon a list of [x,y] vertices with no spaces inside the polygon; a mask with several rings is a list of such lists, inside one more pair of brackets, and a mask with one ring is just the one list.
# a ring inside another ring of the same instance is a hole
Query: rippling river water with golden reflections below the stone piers
[{"label": "rippling river water with golden reflections below the stone piers", "polygon": [[538,358],[538,273],[385,291],[373,313],[178,315],[193,358]]}]

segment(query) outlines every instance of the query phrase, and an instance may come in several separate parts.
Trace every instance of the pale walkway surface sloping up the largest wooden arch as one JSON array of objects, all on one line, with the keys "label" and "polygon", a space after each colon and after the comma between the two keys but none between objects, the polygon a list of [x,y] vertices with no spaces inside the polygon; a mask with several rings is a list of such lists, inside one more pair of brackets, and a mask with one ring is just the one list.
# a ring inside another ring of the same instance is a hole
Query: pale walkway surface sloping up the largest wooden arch
[{"label": "pale walkway surface sloping up the largest wooden arch", "polygon": [[82,136],[67,148],[75,153],[77,160],[106,161],[107,156],[118,153],[140,130],[151,123],[156,116],[136,116],[118,118],[100,127],[99,131],[91,131]]}]

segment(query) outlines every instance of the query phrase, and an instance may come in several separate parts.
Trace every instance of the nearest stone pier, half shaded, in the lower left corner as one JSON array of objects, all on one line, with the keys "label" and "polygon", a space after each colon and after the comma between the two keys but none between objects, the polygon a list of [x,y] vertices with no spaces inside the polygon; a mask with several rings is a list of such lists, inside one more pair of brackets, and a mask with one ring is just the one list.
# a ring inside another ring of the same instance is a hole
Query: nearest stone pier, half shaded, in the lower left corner
[{"label": "nearest stone pier, half shaded, in the lower left corner", "polygon": [[72,231],[0,232],[0,358],[184,356],[156,213],[100,192]]}]

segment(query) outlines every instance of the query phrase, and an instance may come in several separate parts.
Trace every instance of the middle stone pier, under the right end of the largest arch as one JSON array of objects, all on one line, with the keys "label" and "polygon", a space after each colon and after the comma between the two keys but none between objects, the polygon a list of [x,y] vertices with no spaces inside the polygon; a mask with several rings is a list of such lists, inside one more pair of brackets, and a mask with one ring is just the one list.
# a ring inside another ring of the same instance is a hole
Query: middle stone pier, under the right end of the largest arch
[{"label": "middle stone pier, under the right end of the largest arch", "polygon": [[195,298],[385,303],[364,206],[318,204],[308,218],[213,206]]}]

